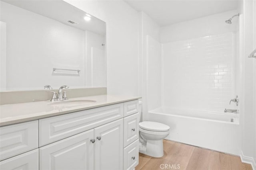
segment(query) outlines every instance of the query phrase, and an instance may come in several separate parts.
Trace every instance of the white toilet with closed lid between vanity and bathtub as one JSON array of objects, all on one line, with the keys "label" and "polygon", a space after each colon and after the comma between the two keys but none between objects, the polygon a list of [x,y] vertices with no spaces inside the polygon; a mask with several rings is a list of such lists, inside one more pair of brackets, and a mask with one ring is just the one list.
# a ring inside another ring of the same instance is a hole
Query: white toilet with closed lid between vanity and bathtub
[{"label": "white toilet with closed lid between vanity and bathtub", "polygon": [[[142,111],[142,102],[139,101],[139,113]],[[164,156],[163,139],[170,133],[170,127],[154,121],[142,121],[139,123],[139,152],[152,156]]]}]

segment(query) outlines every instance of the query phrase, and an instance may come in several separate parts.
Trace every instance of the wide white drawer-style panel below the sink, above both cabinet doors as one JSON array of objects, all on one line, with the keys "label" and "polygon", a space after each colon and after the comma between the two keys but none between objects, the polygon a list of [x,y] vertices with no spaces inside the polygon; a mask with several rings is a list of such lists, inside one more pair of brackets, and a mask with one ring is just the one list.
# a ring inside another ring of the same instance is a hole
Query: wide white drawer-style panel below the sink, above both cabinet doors
[{"label": "wide white drawer-style panel below the sink, above both cabinet doors", "polygon": [[123,117],[123,104],[98,107],[39,120],[39,146],[87,131]]}]

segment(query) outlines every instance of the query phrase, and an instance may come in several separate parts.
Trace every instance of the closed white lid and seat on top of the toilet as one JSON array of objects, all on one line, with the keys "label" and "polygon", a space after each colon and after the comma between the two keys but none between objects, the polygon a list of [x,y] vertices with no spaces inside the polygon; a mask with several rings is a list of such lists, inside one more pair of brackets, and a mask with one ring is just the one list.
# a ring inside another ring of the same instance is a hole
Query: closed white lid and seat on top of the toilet
[{"label": "closed white lid and seat on top of the toilet", "polygon": [[139,123],[139,127],[148,131],[165,132],[170,129],[169,126],[154,121],[143,121]]}]

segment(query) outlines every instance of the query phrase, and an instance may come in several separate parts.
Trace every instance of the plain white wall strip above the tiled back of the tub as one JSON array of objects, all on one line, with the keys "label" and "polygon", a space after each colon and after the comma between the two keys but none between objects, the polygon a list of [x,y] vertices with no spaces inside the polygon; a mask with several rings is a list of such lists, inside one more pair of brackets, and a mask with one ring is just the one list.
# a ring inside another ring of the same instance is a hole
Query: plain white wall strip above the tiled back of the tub
[{"label": "plain white wall strip above the tiled back of the tub", "polygon": [[161,27],[161,43],[234,32],[238,28],[238,17],[232,19],[231,25],[225,21],[235,14],[238,14],[237,10]]}]

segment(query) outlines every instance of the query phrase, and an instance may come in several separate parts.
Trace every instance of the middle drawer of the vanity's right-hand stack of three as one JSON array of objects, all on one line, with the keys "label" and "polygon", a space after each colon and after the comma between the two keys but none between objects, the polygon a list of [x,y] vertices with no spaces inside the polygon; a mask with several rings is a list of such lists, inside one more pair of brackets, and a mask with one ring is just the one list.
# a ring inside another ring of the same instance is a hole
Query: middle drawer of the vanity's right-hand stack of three
[{"label": "middle drawer of the vanity's right-hand stack of three", "polygon": [[124,147],[139,138],[139,113],[124,117]]}]

